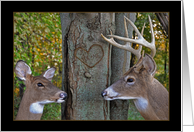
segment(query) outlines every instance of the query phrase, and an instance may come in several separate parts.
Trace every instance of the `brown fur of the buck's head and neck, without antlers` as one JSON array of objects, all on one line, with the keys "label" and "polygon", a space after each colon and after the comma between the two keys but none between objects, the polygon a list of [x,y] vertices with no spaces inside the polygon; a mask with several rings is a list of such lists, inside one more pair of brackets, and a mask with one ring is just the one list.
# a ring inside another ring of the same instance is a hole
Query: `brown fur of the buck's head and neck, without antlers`
[{"label": "brown fur of the buck's head and neck, without antlers", "polygon": [[[166,88],[154,78],[156,64],[149,55],[141,58],[141,61],[138,61],[138,65],[136,64],[130,68],[110,87],[116,93],[119,93],[117,97],[135,97],[146,99],[148,102],[146,109],[141,109],[137,104],[138,100],[134,99],[134,103],[144,119],[168,120],[169,94]],[[126,78],[128,77],[135,79],[135,83],[129,85],[126,81]]]}]

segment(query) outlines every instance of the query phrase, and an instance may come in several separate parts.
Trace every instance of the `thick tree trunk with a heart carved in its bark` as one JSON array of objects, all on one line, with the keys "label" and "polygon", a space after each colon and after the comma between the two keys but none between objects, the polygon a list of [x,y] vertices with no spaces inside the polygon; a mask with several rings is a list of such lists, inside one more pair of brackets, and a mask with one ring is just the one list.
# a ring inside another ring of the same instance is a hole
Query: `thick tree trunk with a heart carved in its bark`
[{"label": "thick tree trunk with a heart carved in its bark", "polygon": [[61,13],[63,46],[62,89],[68,94],[62,104],[62,119],[109,120],[109,102],[101,91],[110,85],[114,13]]}]

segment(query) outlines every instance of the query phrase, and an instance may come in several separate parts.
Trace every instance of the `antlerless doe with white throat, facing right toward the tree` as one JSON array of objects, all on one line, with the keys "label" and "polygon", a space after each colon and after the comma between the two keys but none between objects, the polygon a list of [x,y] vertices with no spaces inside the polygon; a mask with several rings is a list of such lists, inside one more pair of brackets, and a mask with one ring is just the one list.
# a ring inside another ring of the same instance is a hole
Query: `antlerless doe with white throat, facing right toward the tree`
[{"label": "antlerless doe with white throat, facing right toward the tree", "polygon": [[51,83],[55,67],[33,77],[30,67],[20,60],[16,63],[15,73],[26,85],[16,120],[40,120],[45,104],[65,101],[67,94]]}]

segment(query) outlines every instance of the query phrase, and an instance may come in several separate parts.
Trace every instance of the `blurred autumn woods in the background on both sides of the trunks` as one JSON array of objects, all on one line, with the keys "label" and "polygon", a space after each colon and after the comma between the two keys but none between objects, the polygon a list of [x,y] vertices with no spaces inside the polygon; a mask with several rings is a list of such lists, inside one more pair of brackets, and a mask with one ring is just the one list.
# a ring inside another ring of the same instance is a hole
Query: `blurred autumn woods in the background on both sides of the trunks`
[{"label": "blurred autumn woods in the background on both sides of the trunks", "polygon": [[[152,19],[156,39],[155,78],[169,90],[169,40],[163,32],[162,25],[154,13],[137,13],[135,25],[141,31],[145,22],[143,36],[150,42],[148,15]],[[134,32],[133,38],[136,37]],[[133,44],[133,47],[137,49],[138,45]],[[150,54],[148,48],[143,47],[143,50]],[[132,55],[131,65],[137,61],[134,58]],[[59,13],[14,13],[14,67],[18,60],[24,60],[30,66],[33,76],[38,76],[55,66],[57,69],[52,82],[58,88],[62,88],[62,32]],[[14,73],[14,119],[24,91],[24,83]],[[41,120],[60,119],[61,104],[44,106]]]}]

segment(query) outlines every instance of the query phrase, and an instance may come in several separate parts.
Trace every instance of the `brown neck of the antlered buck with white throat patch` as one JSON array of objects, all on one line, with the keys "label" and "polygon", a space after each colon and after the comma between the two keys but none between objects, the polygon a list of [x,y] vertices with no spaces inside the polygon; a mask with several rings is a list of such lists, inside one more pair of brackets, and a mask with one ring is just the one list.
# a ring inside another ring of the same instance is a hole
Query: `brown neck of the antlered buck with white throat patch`
[{"label": "brown neck of the antlered buck with white throat patch", "polygon": [[134,100],[140,114],[147,120],[168,120],[168,91],[156,79],[145,84],[146,92],[143,97]]}]

